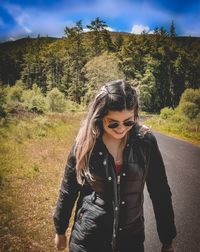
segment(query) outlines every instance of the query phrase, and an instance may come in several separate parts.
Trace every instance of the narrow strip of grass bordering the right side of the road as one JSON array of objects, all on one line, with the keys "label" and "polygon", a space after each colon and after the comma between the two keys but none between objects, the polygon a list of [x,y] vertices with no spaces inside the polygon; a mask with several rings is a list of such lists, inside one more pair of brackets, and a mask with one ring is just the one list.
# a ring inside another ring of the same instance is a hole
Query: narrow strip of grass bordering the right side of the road
[{"label": "narrow strip of grass bordering the right side of the road", "polygon": [[199,129],[197,130],[197,126],[191,121],[172,121],[170,119],[162,119],[159,115],[153,115],[151,118],[145,119],[144,124],[170,136],[193,144],[200,144],[200,131]]}]

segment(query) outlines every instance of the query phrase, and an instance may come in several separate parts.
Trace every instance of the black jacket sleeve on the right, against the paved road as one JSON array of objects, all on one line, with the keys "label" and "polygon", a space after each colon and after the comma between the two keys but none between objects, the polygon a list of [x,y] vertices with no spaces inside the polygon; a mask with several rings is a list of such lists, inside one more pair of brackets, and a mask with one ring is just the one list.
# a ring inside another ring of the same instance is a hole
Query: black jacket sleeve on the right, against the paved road
[{"label": "black jacket sleeve on the right, against the paved road", "polygon": [[151,149],[146,184],[153,203],[159,239],[162,243],[168,244],[176,236],[172,194],[156,138],[151,133],[148,135]]}]

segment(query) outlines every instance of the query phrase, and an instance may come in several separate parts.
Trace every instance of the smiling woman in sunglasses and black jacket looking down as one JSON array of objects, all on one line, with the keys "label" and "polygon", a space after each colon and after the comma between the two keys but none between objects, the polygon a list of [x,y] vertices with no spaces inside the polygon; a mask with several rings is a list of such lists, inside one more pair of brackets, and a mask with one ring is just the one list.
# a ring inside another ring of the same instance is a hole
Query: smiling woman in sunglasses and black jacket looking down
[{"label": "smiling woman in sunglasses and black jacket looking down", "polygon": [[54,213],[58,250],[67,246],[78,198],[70,252],[144,251],[145,183],[162,251],[174,251],[171,192],[156,139],[138,124],[136,91],[123,80],[112,81],[91,103],[68,157]]}]

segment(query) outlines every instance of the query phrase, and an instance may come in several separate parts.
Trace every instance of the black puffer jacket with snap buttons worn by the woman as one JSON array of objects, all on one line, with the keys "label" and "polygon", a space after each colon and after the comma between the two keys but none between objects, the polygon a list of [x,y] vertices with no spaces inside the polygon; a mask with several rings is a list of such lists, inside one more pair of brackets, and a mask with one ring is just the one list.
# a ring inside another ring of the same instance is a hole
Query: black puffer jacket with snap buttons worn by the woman
[{"label": "black puffer jacket with snap buttons worn by the woman", "polygon": [[[117,251],[121,242],[129,243],[134,237],[144,240],[145,182],[160,241],[169,243],[176,236],[171,191],[157,141],[152,133],[142,135],[140,129],[137,125],[130,131],[120,176],[116,175],[114,160],[99,138],[90,158],[94,180],[80,186],[72,148],[54,213],[56,232],[64,234],[79,195],[69,244],[71,252]],[[109,245],[110,250],[106,250]]]}]

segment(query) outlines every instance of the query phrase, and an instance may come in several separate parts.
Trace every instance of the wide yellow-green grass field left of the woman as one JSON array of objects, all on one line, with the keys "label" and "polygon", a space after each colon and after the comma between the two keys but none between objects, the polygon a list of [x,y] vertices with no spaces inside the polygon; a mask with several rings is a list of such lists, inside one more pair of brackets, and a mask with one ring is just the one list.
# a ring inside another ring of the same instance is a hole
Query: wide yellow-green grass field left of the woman
[{"label": "wide yellow-green grass field left of the woman", "polygon": [[56,251],[52,215],[82,114],[28,114],[0,126],[0,251]]}]

